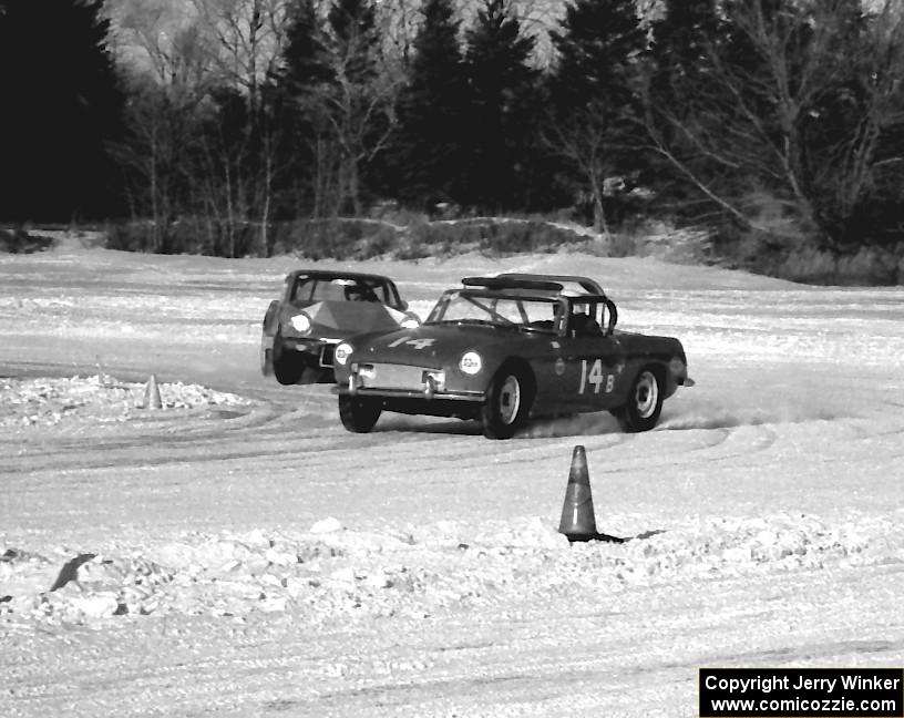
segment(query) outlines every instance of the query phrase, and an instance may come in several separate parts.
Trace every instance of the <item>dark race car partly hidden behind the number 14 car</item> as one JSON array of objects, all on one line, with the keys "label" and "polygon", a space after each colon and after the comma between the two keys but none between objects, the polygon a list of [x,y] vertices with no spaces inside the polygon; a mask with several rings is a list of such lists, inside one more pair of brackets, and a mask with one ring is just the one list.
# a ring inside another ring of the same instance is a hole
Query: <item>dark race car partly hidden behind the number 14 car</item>
[{"label": "dark race car partly hidden behind the number 14 car", "polygon": [[260,369],[284,384],[331,383],[336,345],[357,334],[414,327],[388,277],[299,269],[264,316]]}]

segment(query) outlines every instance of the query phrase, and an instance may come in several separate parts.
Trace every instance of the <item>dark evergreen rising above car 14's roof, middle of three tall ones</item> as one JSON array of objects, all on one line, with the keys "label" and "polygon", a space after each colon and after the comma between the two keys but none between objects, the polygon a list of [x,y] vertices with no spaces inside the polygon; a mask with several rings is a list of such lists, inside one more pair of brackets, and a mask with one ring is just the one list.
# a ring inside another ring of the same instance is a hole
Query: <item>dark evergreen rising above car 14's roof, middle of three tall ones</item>
[{"label": "dark evergreen rising above car 14's roof, middle of three tall ones", "polygon": [[525,156],[531,152],[532,95],[538,73],[531,64],[534,39],[506,0],[485,0],[466,33],[469,133],[462,194],[490,209],[521,204]]}]

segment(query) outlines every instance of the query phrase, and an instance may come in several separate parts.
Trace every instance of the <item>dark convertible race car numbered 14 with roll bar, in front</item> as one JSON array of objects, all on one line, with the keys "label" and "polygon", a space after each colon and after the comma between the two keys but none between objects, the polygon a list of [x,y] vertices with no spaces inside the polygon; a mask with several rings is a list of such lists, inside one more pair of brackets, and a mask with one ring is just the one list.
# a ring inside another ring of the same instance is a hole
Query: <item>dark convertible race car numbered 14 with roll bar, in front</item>
[{"label": "dark convertible race car numbered 14 with roll bar, in front", "polygon": [[610,411],[625,431],[656,425],[662,400],[692,386],[678,339],[615,329],[586,277],[468,277],[423,325],[336,348],[339,417],[355,432],[383,410],[477,419],[507,439],[530,417]]}]

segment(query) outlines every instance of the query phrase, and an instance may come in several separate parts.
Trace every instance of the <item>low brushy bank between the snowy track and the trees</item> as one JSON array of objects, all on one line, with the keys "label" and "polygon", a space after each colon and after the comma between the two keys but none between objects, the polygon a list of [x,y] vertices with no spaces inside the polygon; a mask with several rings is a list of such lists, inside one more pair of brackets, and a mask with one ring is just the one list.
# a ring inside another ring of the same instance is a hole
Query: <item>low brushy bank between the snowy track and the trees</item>
[{"label": "low brushy bank between the snowy track and the trees", "polygon": [[[760,198],[761,199],[761,198]],[[196,253],[217,256],[295,255],[311,260],[371,259],[392,256],[402,260],[451,257],[469,252],[491,257],[516,254],[586,252],[597,256],[654,256],[680,264],[719,264],[811,284],[895,284],[904,280],[904,243],[894,247],[861,247],[838,255],[820,246],[810,234],[761,201],[762,229],[722,225],[678,229],[650,219],[625,222],[603,237],[584,227],[543,218],[469,217],[429,222],[423,214],[383,208],[382,216],[407,218],[399,225],[386,218],[328,218],[273,223],[267,242],[260,225],[227,226],[206,217],[173,222],[162,230],[148,220],[126,222],[109,228],[106,246],[113,249],[158,253]],[[33,252],[28,235],[0,233],[0,250]]]}]

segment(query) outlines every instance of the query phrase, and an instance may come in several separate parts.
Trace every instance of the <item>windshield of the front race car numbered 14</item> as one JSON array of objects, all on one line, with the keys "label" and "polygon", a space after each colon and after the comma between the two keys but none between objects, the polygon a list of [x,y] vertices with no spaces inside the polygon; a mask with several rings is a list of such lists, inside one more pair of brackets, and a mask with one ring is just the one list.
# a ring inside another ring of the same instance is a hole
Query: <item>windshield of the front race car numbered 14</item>
[{"label": "windshield of the front race car numbered 14", "polygon": [[427,324],[486,324],[554,334],[558,312],[559,304],[554,298],[501,297],[459,290],[442,296]]}]

